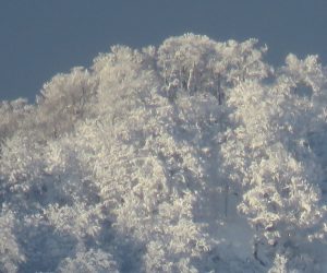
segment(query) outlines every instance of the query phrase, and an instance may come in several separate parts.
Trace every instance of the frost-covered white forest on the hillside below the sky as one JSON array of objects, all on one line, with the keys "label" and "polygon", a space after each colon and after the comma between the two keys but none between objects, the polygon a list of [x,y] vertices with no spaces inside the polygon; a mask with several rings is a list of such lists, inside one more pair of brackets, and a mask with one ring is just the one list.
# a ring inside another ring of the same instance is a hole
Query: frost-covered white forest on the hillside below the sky
[{"label": "frost-covered white forest on the hillside below the sky", "polygon": [[0,103],[0,272],[327,272],[327,73],[256,39],[113,46]]}]

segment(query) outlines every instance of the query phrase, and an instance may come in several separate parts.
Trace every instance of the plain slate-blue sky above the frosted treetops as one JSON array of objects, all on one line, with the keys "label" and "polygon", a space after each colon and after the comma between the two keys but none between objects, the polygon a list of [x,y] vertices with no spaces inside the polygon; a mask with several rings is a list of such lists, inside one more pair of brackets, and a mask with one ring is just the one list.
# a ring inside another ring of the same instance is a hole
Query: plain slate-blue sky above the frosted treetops
[{"label": "plain slate-blue sky above the frosted treetops", "polygon": [[327,0],[0,0],[0,99],[34,100],[44,82],[87,67],[111,45],[159,45],[186,32],[256,37],[267,60],[318,54],[327,64]]}]

